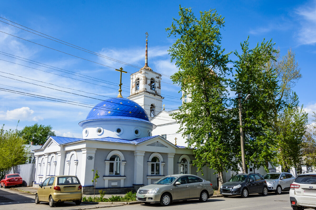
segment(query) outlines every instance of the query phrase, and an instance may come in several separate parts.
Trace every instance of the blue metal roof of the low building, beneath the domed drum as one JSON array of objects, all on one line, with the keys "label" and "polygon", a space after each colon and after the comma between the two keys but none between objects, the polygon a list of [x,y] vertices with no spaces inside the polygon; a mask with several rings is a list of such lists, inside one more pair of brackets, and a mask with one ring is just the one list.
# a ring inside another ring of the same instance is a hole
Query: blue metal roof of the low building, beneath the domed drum
[{"label": "blue metal roof of the low building, beneath the domed drum", "polygon": [[99,138],[99,139],[77,139],[77,138],[68,138],[68,137],[60,137],[60,136],[51,136],[58,144],[63,145],[71,142],[81,141],[81,140],[93,140],[93,141],[104,141],[104,142],[113,142],[113,143],[124,143],[124,144],[139,144],[141,142],[147,141],[149,139],[155,138],[156,136],[149,136],[140,139],[126,140],[126,139],[117,139],[112,137]]}]

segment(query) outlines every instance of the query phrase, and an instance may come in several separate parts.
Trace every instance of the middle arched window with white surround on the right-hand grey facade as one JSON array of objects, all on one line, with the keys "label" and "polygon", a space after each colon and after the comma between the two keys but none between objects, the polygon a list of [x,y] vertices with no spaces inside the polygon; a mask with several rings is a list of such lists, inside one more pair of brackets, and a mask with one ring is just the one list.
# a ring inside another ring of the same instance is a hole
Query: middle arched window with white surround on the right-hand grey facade
[{"label": "middle arched window with white surround on the right-hand grey facade", "polygon": [[148,159],[148,175],[147,180],[148,184],[152,184],[152,179],[161,179],[164,177],[163,166],[165,162],[163,162],[163,158],[161,154],[158,152],[154,152],[149,156]]}]

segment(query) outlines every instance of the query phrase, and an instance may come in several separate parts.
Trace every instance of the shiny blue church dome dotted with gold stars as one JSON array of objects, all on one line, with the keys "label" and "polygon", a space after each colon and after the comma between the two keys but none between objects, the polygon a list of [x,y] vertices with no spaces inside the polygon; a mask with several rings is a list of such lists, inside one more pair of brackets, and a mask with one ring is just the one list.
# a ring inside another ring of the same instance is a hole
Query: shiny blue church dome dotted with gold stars
[{"label": "shiny blue church dome dotted with gold stars", "polygon": [[95,105],[86,120],[130,119],[149,122],[146,111],[136,102],[125,98],[110,98]]}]

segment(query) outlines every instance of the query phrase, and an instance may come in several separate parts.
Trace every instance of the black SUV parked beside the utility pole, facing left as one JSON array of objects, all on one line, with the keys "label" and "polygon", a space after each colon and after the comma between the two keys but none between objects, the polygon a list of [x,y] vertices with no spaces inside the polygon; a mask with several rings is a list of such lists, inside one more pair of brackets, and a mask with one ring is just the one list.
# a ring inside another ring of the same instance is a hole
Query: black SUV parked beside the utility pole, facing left
[{"label": "black SUV parked beside the utility pole, facing left", "polygon": [[221,186],[220,193],[224,197],[241,195],[246,198],[249,194],[254,193],[266,196],[268,186],[259,173],[238,173]]}]

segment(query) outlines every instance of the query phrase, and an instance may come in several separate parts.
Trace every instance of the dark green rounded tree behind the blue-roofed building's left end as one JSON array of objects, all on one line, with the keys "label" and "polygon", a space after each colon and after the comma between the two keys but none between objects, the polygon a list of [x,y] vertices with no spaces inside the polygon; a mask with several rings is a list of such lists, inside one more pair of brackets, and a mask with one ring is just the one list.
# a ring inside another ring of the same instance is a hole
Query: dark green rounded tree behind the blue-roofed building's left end
[{"label": "dark green rounded tree behind the blue-roofed building's left end", "polygon": [[55,136],[52,131],[52,126],[38,125],[35,123],[32,126],[25,126],[21,131],[18,131],[19,136],[26,140],[26,144],[33,142],[34,145],[44,144],[49,136]]}]

